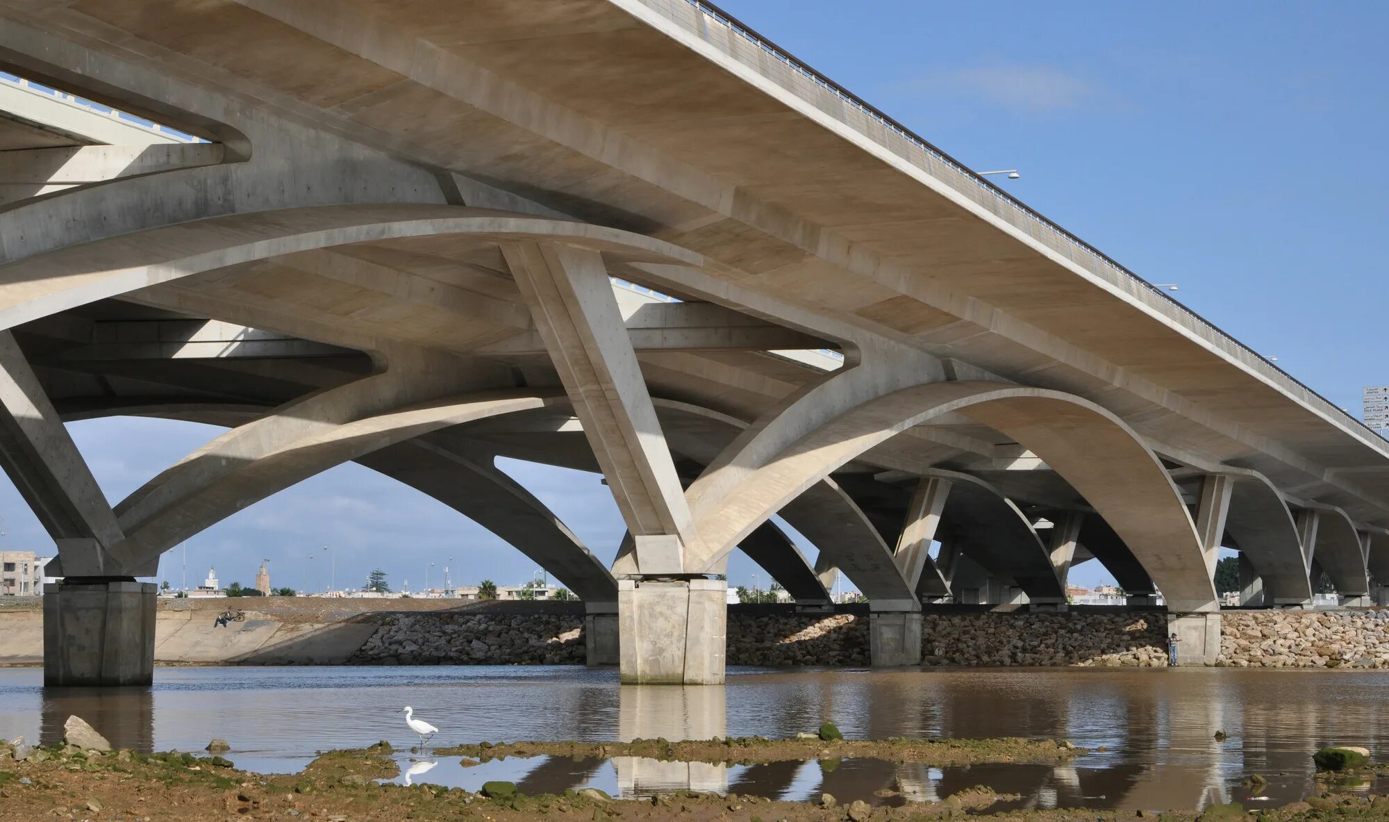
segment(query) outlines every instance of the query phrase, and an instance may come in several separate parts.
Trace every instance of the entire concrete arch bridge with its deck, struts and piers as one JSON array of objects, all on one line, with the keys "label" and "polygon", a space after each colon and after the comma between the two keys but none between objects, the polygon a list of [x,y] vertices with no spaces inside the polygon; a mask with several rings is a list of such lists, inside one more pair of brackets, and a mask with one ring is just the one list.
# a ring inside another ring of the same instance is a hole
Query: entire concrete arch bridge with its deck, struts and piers
[{"label": "entire concrete arch bridge with its deck, struts and piers", "polygon": [[[881,665],[922,601],[1064,607],[1090,558],[1190,614],[1192,661],[1220,547],[1249,603],[1389,579],[1389,443],[707,4],[0,18],[0,460],[67,578],[49,683],[149,682],[135,579],[349,460],[549,568],[625,682],[722,682],[733,550],[806,607],[846,575]],[[63,426],[106,414],[228,432],[111,505]],[[600,471],[614,565],[497,455]]]}]

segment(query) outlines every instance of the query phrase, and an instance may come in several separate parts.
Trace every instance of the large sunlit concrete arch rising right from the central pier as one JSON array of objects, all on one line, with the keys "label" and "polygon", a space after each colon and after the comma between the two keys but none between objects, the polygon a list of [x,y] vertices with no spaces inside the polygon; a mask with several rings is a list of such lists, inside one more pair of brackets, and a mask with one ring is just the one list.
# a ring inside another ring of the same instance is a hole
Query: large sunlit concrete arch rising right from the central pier
[{"label": "large sunlit concrete arch rising right from the central pier", "polygon": [[[1163,464],[1132,429],[1081,397],[996,382],[940,382],[892,392],[767,460],[739,465],[740,478],[726,493],[700,500],[699,543],[688,554],[688,568],[700,572],[717,564],[747,532],[831,471],[951,411],[1011,436],[1064,476],[1143,562],[1170,607],[1214,607],[1215,589],[1190,514]],[[711,485],[718,482],[711,478]]]}]

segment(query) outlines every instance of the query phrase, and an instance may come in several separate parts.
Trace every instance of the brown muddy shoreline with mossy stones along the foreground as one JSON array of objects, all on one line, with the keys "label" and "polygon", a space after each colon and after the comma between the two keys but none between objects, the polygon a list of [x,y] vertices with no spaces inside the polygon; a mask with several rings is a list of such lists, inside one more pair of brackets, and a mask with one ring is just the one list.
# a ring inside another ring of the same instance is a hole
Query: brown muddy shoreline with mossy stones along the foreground
[{"label": "brown muddy shoreline with mossy stones along the foreground", "polygon": [[[810,740],[735,740],[732,747],[751,751],[749,755],[795,758],[804,753]],[[820,741],[820,740],[817,740]],[[726,747],[725,741],[665,743],[639,740],[618,748],[601,746],[607,755],[644,755],[665,748],[682,753],[706,751],[700,746]],[[803,744],[799,744],[803,743]],[[565,746],[578,747],[565,747]],[[1021,751],[1036,755],[1075,757],[1081,751],[1065,748],[1051,740],[882,740],[820,743],[815,750],[829,750],[838,755],[885,754],[903,757],[900,761],[926,761],[917,757],[939,755],[943,750],[968,755],[1013,757]],[[1045,751],[1042,746],[1050,746]],[[693,746],[681,748],[681,746]],[[467,751],[464,748],[451,748]],[[814,746],[810,746],[814,747]],[[546,750],[542,750],[546,748]],[[599,751],[581,743],[513,743],[479,747],[481,755],[565,755]],[[1064,751],[1064,754],[1063,754]],[[25,758],[15,760],[19,753]],[[222,819],[281,819],[315,822],[347,822],[356,819],[419,819],[519,822],[522,819],[556,819],[563,822],[590,822],[614,819],[675,819],[681,822],[785,821],[785,822],[889,822],[906,819],[943,819],[960,815],[992,815],[999,801],[1017,796],[996,794],[988,786],[974,786],[931,803],[907,803],[899,807],[871,807],[865,803],[840,804],[829,796],[814,801],[779,801],[738,794],[701,794],[671,791],[647,798],[614,800],[597,790],[567,790],[563,794],[525,796],[515,793],[511,783],[488,783],[482,791],[471,793],[458,787],[446,789],[421,783],[401,786],[378,780],[393,779],[400,765],[389,744],[381,743],[365,750],[328,751],[315,758],[300,773],[260,775],[242,771],[221,757],[186,753],[139,754],[132,751],[82,751],[72,746],[21,748],[0,744],[0,816],[7,819],[133,819],[211,822]],[[435,751],[435,753],[443,753]],[[706,751],[710,753],[710,751]],[[465,755],[465,754],[464,754]],[[710,755],[714,755],[710,753]],[[908,758],[910,757],[910,758]],[[728,761],[728,760],[722,760]],[[999,761],[999,760],[995,760]],[[1011,760],[1010,760],[1011,761]],[[1096,811],[1047,810],[1007,811],[996,818],[1029,822],[1061,819],[1120,819],[1153,818],[1151,811]],[[1161,819],[1182,822],[1238,822],[1247,815],[1238,805],[1217,805],[1204,814],[1195,811],[1164,811]],[[1389,797],[1347,796],[1325,793],[1293,803],[1279,810],[1261,811],[1268,822],[1301,822],[1313,819],[1389,819]]]}]

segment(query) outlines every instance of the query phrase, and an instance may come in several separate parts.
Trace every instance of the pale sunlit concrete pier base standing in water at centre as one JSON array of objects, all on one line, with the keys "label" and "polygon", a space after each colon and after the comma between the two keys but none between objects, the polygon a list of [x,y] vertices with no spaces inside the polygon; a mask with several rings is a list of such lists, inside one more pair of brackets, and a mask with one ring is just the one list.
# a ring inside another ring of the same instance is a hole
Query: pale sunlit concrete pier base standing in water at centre
[{"label": "pale sunlit concrete pier base standing in water at centre", "polygon": [[726,582],[619,579],[617,612],[624,685],[724,683]]}]

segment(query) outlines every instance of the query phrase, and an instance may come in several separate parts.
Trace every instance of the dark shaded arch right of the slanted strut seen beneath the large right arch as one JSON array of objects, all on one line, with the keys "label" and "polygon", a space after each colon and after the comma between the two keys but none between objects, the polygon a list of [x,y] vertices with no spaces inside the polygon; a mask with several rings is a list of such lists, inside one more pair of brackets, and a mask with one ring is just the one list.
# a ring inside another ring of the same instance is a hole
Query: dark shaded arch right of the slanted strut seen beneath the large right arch
[{"label": "dark shaded arch right of the slanted strut seen beneath the large right arch", "polygon": [[988,482],[957,471],[932,471],[949,479],[940,528],[964,555],[996,576],[1011,576],[1032,600],[1065,600],[1051,555],[1026,515]]}]

